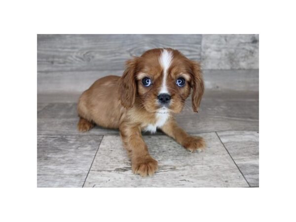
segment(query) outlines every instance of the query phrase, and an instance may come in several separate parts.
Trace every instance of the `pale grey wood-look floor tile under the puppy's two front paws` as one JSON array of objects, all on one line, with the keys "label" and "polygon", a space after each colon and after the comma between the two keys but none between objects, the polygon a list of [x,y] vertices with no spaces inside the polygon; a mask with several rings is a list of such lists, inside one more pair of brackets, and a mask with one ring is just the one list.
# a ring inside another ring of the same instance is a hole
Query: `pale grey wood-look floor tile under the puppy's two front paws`
[{"label": "pale grey wood-look floor tile under the puppy's two front paws", "polygon": [[132,173],[119,136],[105,136],[84,187],[247,187],[216,133],[200,134],[208,149],[190,153],[167,136],[145,136],[158,160],[153,177]]}]

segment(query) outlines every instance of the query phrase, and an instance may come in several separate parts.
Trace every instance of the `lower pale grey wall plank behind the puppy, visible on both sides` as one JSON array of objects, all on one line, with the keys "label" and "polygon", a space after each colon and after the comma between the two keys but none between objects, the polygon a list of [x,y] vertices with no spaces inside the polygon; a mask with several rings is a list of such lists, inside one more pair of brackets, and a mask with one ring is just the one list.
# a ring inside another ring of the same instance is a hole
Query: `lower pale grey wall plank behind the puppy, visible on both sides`
[{"label": "lower pale grey wall plank behind the puppy, visible on both sides", "polygon": [[[38,73],[38,94],[79,94],[106,75],[121,76],[123,70]],[[258,70],[204,70],[207,90],[259,91]],[[54,101],[52,101],[54,102]],[[76,101],[75,101],[76,102]]]}]

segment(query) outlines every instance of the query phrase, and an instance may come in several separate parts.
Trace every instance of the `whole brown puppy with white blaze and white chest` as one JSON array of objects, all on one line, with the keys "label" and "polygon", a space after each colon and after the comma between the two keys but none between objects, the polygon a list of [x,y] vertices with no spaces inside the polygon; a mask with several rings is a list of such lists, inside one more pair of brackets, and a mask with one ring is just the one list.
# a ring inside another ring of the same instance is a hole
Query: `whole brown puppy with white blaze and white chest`
[{"label": "whole brown puppy with white blaze and white chest", "polygon": [[201,137],[188,135],[173,117],[185,106],[192,89],[192,108],[197,112],[204,92],[200,65],[178,50],[156,48],[126,62],[121,77],[109,75],[95,81],[78,102],[78,130],[94,124],[118,128],[131,159],[132,170],[151,176],[157,170],[141,131],[161,129],[189,151],[204,150]]}]

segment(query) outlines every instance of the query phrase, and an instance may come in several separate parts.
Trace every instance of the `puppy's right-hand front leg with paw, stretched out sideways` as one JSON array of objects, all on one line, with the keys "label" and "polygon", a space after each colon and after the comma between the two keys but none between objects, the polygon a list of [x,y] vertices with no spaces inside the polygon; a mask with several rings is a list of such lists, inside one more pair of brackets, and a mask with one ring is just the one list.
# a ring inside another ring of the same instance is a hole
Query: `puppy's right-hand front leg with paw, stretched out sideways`
[{"label": "puppy's right-hand front leg with paw, stretched out sideways", "polygon": [[204,151],[206,148],[206,143],[202,137],[190,136],[178,126],[174,119],[168,120],[161,127],[161,130],[191,152],[195,150]]}]

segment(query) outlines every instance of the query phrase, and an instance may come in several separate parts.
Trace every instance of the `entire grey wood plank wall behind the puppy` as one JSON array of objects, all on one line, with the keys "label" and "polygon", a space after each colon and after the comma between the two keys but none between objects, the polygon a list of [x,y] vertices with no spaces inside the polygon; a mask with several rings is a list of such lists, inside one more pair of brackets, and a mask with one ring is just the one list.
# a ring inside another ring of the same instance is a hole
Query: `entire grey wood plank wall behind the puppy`
[{"label": "entire grey wood plank wall behind the puppy", "polygon": [[37,93],[80,93],[156,47],[201,62],[206,88],[259,90],[259,35],[37,35]]}]

